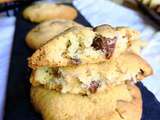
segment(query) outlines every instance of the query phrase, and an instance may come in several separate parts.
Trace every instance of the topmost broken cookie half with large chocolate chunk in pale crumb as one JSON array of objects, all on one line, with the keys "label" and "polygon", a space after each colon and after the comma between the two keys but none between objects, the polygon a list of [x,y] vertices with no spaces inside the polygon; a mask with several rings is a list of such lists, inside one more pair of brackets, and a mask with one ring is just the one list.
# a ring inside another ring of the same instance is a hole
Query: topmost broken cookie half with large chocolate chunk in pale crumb
[{"label": "topmost broken cookie half with large chocolate chunk in pale crumb", "polygon": [[132,37],[127,30],[123,35],[113,28],[113,33],[103,35],[87,27],[72,27],[38,49],[29,58],[29,66],[36,69],[99,63],[125,51],[134,51],[131,50],[132,42],[139,37],[126,37]]}]

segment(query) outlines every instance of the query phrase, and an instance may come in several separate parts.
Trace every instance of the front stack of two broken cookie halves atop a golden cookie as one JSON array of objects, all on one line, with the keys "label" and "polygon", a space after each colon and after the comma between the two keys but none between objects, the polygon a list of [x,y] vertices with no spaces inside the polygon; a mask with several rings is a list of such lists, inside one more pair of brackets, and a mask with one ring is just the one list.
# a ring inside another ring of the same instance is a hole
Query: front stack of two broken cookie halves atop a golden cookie
[{"label": "front stack of two broken cookie halves atop a golden cookie", "polygon": [[73,26],[29,58],[31,101],[45,120],[140,120],[134,85],[152,74],[137,31]]}]

